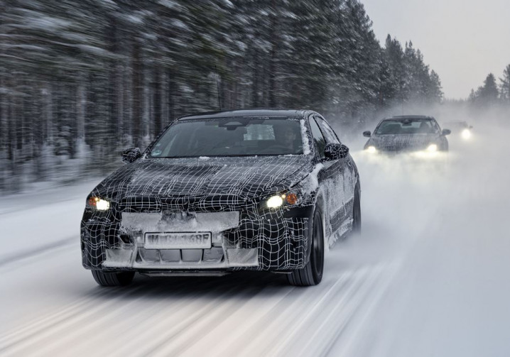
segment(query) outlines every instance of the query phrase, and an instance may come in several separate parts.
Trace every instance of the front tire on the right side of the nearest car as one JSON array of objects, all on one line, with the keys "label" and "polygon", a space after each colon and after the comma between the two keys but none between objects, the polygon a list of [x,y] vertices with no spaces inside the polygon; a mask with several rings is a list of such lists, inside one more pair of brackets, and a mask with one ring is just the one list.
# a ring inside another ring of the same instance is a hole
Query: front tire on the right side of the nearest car
[{"label": "front tire on the right side of the nearest car", "polygon": [[312,245],[310,259],[302,269],[296,269],[287,275],[289,284],[295,286],[318,285],[324,270],[324,232],[322,216],[318,209],[313,214]]}]

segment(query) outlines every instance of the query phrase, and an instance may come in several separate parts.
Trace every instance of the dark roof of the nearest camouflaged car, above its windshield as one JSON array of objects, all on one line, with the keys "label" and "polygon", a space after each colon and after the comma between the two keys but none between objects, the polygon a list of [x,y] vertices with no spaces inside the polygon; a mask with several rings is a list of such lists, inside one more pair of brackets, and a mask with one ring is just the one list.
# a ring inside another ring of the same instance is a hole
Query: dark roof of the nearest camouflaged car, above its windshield
[{"label": "dark roof of the nearest camouflaged car, above its windshield", "polygon": [[314,113],[313,111],[304,109],[241,109],[241,110],[228,110],[228,111],[207,111],[200,114],[192,114],[181,116],[178,120],[191,120],[191,119],[212,119],[212,118],[239,118],[239,117],[271,117],[271,116],[285,116],[288,118],[305,118],[307,114]]}]

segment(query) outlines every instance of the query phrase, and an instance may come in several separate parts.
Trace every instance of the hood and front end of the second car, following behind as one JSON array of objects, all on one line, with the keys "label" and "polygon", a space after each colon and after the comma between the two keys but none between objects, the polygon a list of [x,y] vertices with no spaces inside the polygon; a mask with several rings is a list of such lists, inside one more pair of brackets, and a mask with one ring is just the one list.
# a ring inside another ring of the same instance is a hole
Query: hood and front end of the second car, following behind
[{"label": "hood and front end of the second car, following behind", "polygon": [[374,135],[365,148],[374,146],[379,151],[424,150],[431,143],[436,143],[438,138],[439,134]]}]

